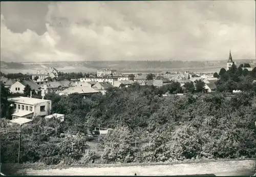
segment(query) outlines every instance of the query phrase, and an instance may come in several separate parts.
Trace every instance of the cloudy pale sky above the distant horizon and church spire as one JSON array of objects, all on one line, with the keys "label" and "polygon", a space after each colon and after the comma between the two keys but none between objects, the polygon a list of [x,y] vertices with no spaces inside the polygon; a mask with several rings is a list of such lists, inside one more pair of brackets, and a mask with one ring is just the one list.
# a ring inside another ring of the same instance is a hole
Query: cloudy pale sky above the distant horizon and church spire
[{"label": "cloudy pale sky above the distant horizon and church spire", "polygon": [[1,60],[255,58],[255,1],[1,2]]}]

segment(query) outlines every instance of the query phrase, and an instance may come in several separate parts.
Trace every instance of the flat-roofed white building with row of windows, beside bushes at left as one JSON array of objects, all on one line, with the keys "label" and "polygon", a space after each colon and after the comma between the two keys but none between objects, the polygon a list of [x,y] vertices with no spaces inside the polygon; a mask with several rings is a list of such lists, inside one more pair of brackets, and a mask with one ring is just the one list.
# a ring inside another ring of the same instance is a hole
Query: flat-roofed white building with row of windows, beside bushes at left
[{"label": "flat-roofed white building with row of windows, beside bushes at left", "polygon": [[15,97],[9,98],[14,104],[14,113],[12,119],[27,118],[33,119],[36,116],[48,116],[52,110],[52,101],[45,99],[37,99],[31,97]]}]

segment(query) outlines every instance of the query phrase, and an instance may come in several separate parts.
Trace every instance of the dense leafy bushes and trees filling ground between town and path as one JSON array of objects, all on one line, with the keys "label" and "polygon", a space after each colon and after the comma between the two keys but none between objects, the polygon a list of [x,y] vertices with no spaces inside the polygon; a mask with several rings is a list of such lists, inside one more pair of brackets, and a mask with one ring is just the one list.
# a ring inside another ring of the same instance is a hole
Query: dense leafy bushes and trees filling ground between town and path
[{"label": "dense leafy bushes and trees filling ground between town and path", "polygon": [[[255,157],[256,90],[250,81],[256,75],[249,72],[238,79],[237,71],[234,67],[223,70],[217,85],[227,91],[233,89],[232,84],[250,88],[238,95],[202,94],[201,82],[196,85],[199,93],[187,89],[182,97],[163,98],[159,95],[163,88],[138,84],[110,89],[104,96],[49,94],[46,99],[52,100],[53,113],[65,114],[66,119],[35,118],[23,125],[21,161],[88,164],[99,157],[101,163]],[[176,93],[180,86],[175,83],[165,89]],[[19,127],[3,119],[0,125],[1,161],[15,163]],[[99,147],[89,146],[86,135],[99,126],[114,130],[99,142],[90,140]]]}]

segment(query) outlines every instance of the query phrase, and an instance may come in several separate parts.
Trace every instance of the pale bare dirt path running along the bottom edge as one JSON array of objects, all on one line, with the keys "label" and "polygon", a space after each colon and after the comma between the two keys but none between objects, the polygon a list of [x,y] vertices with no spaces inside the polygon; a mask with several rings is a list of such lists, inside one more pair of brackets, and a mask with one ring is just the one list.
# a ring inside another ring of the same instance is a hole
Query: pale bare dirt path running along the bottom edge
[{"label": "pale bare dirt path running along the bottom edge", "polygon": [[[50,170],[26,169],[27,175],[253,175],[253,160],[222,161],[174,165],[129,166],[129,167],[95,167],[95,168],[67,168]],[[21,171],[19,171],[21,172]]]}]

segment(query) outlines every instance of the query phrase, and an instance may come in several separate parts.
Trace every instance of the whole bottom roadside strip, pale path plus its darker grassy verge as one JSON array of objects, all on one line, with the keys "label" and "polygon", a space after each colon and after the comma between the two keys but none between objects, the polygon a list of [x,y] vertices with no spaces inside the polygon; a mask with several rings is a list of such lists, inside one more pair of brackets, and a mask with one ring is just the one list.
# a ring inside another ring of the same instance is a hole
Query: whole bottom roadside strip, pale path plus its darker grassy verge
[{"label": "whole bottom roadside strip, pale path plus its darker grassy verge", "polygon": [[210,173],[215,175],[253,175],[254,166],[254,159],[49,166],[43,164],[4,164],[5,169],[9,169],[9,172],[6,171],[5,174],[12,173],[27,175],[134,175],[135,172],[137,175],[186,175]]}]

